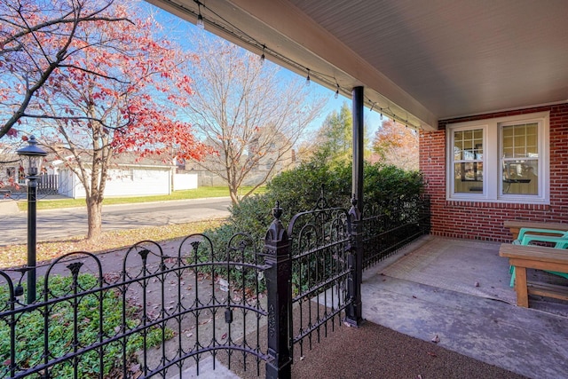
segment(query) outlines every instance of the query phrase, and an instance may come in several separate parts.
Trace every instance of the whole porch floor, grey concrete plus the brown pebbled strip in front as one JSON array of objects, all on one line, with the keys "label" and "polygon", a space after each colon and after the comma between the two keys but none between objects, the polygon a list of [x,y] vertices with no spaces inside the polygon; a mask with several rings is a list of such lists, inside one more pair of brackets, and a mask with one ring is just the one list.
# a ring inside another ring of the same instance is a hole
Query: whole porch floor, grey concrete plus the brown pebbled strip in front
[{"label": "whole porch floor, grey concrete plus the brown pebbled strip in front", "polygon": [[[531,308],[509,304],[514,302],[515,291],[509,287],[507,259],[498,257],[498,250],[496,242],[429,235],[367,268],[361,285],[363,318],[422,340],[410,342],[417,349],[399,349],[399,344],[408,343],[406,336],[395,336],[399,342],[390,343],[389,332],[381,331],[381,336],[365,326],[360,331],[343,328],[306,354],[305,362],[295,362],[298,377],[314,368],[324,370],[321,377],[326,377],[327,370],[330,375],[346,378],[369,373],[388,378],[495,375],[474,371],[485,367],[468,366],[469,361],[445,361],[446,356],[433,352],[434,344],[518,375],[561,377],[568,369],[568,332],[564,328],[568,302],[531,297]],[[452,251],[466,257],[460,267],[448,254]],[[424,262],[424,254],[431,257],[430,264]],[[540,280],[562,279],[543,277],[541,272],[529,275]],[[436,281],[438,285],[433,285]],[[353,343],[346,342],[349,339]],[[437,339],[439,342],[434,343]],[[385,348],[396,352],[390,354]],[[375,359],[361,358],[369,355]],[[420,366],[424,357],[430,359],[428,365],[438,365],[438,371],[426,374],[425,367]],[[455,371],[444,371],[448,367]]]}]

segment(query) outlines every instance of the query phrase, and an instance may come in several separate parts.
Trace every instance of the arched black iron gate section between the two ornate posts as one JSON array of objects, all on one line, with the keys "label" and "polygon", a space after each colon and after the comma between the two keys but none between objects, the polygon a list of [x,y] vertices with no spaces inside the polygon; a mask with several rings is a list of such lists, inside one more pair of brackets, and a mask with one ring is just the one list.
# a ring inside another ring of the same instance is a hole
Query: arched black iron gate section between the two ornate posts
[{"label": "arched black iron gate section between the two ornate posts", "polygon": [[351,220],[345,209],[315,209],[297,214],[288,225],[292,260],[292,343],[327,336],[340,325],[341,313],[351,304],[347,280]]}]

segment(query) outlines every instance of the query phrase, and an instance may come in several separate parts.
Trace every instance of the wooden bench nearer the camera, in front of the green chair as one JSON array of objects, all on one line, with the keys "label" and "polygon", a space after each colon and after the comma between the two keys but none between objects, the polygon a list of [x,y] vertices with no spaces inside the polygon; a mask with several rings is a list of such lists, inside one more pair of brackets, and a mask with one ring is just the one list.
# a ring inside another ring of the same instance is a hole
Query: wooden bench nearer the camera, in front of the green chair
[{"label": "wooden bench nearer the camera, in front of the green chair", "polygon": [[527,268],[568,272],[568,250],[501,243],[499,255],[508,257],[509,265],[516,267],[515,291],[517,291],[518,306],[528,308],[529,295],[568,300],[568,287],[566,286],[527,282],[526,280]]}]

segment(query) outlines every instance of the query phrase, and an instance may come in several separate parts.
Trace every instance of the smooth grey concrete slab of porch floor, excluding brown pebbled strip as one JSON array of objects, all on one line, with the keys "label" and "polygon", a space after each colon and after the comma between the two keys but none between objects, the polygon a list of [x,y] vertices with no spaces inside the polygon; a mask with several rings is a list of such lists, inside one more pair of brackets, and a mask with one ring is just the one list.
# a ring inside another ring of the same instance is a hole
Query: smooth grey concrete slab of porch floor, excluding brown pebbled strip
[{"label": "smooth grey concrete slab of porch floor, excluding brown pebbled strip", "polygon": [[[508,261],[498,257],[500,243],[428,235],[364,272],[361,288],[364,319],[424,341],[439,339],[438,345],[443,348],[520,375],[538,379],[568,378],[568,318],[565,317],[568,302],[531,298],[534,308],[522,308],[495,298],[446,289],[448,280],[471,280],[465,263],[463,269],[456,269],[450,258],[453,254],[440,256],[431,264],[439,273],[439,287],[388,275],[390,265],[406,259],[417,249],[449,249],[451,252],[465,249],[466,245],[472,247],[470,256],[484,251],[502,259],[472,257],[477,259],[477,264],[481,263],[477,275],[499,278],[492,288],[501,286],[502,291],[510,290],[511,294],[505,293],[505,296],[514,298],[514,289],[509,288]],[[421,270],[426,269],[415,268],[419,279]],[[412,278],[412,272],[410,275]],[[430,275],[430,280],[433,277]],[[469,281],[464,287],[469,286],[475,292],[477,286],[484,284]],[[553,309],[559,314],[543,312],[539,309],[542,304],[544,309]]]}]

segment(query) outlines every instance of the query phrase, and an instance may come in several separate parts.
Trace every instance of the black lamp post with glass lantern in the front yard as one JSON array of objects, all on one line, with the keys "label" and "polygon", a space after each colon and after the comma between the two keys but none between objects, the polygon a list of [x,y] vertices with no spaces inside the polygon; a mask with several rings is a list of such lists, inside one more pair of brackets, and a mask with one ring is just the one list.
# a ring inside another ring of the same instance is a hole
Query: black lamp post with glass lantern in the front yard
[{"label": "black lamp post with glass lantern in the front yard", "polygon": [[28,304],[36,301],[36,195],[37,179],[42,169],[43,157],[47,155],[36,146],[36,137],[30,136],[28,146],[16,153],[22,157],[24,172],[28,179]]}]

